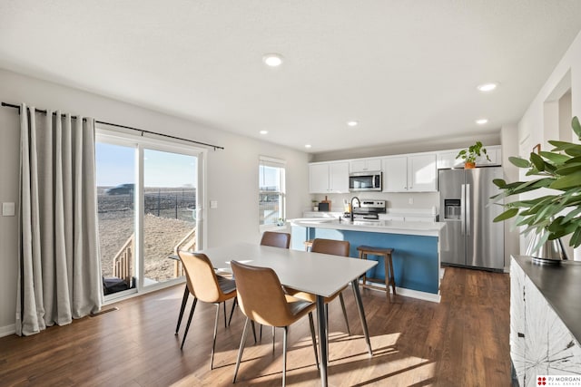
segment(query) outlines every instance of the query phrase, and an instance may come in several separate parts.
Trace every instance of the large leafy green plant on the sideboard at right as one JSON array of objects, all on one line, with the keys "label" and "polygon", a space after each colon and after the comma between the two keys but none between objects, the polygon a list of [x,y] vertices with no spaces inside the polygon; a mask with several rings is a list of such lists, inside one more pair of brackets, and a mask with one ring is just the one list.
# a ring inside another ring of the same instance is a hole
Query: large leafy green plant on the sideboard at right
[{"label": "large leafy green plant on the sideboard at right", "polygon": [[[581,141],[581,125],[574,117],[571,126]],[[495,179],[501,193],[492,197],[500,202],[507,197],[535,189],[547,189],[537,198],[501,203],[506,210],[494,221],[516,218],[516,226],[525,226],[523,233],[535,232],[537,247],[547,240],[571,235],[569,245],[581,245],[581,144],[549,140],[555,148],[550,151],[531,152],[529,159],[509,158],[518,168],[527,169],[527,176],[537,179],[507,183]],[[550,189],[550,190],[549,190]],[[536,250],[537,247],[533,248]]]}]

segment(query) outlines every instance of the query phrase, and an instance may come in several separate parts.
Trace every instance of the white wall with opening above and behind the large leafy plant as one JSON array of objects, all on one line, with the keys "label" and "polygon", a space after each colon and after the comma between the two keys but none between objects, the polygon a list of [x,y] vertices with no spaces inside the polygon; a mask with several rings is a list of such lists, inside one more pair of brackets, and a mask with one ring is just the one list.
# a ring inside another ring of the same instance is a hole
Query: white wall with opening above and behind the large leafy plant
[{"label": "white wall with opening above and behind the large leafy plant", "polygon": [[[572,116],[581,117],[581,33],[576,36],[573,44],[556,65],[555,70],[518,122],[519,153],[521,155],[527,155],[532,146],[537,143],[541,144],[542,149],[550,149],[551,146],[547,140],[556,140],[556,136],[560,136],[562,130],[559,131],[558,125],[547,127],[546,123],[551,118],[558,120],[562,116],[563,111],[559,111],[554,102],[561,99],[569,90],[571,92],[570,100],[569,96],[565,96],[562,101],[566,104],[570,103]],[[520,179],[524,179],[522,170]],[[526,240],[521,237],[521,254],[525,253],[526,248]]]}]

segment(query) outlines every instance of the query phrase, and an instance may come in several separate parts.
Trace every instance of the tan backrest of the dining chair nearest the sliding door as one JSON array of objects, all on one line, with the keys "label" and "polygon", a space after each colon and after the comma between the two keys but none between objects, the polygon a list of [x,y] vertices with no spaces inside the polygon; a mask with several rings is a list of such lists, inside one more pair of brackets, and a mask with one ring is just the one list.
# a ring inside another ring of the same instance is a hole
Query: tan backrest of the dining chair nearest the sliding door
[{"label": "tan backrest of the dining chair nearest the sliding door", "polygon": [[223,294],[212,262],[205,254],[178,251],[190,293],[205,303],[216,303]]}]

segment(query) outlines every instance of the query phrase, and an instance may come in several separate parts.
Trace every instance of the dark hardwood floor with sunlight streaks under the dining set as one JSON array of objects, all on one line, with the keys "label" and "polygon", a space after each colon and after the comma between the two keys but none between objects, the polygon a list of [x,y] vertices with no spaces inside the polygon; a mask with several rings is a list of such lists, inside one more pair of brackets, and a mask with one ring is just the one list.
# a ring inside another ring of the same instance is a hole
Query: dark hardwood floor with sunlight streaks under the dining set
[{"label": "dark hardwood floor with sunlight streaks under the dining set", "polygon": [[[118,303],[119,310],[0,339],[0,385],[231,385],[244,322],[218,330],[210,370],[215,306],[198,304],[183,351],[175,324],[183,285]],[[352,292],[344,293],[351,336],[339,302],[330,305],[331,386],[510,385],[507,274],[447,267],[439,304],[362,290],[374,350],[369,357]],[[392,296],[393,297],[393,296]],[[188,311],[191,301],[188,304]],[[230,306],[230,304],[228,305]],[[111,306],[109,306],[111,307]],[[318,386],[308,319],[291,326],[289,385]],[[281,385],[281,337],[271,329],[247,343],[236,385]]]}]

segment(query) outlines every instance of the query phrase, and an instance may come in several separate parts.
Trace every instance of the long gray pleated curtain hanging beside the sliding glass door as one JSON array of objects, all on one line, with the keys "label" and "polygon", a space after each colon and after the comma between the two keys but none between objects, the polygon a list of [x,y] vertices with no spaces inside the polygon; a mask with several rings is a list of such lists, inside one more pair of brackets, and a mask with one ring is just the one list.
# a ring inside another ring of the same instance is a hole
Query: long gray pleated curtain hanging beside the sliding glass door
[{"label": "long gray pleated curtain hanging beside the sliding glass door", "polygon": [[16,334],[70,324],[103,304],[94,120],[21,106]]}]

